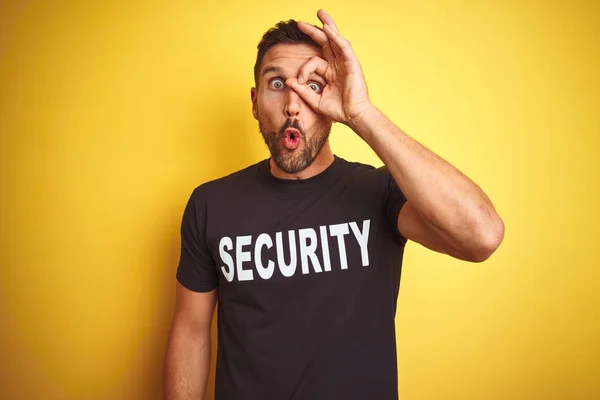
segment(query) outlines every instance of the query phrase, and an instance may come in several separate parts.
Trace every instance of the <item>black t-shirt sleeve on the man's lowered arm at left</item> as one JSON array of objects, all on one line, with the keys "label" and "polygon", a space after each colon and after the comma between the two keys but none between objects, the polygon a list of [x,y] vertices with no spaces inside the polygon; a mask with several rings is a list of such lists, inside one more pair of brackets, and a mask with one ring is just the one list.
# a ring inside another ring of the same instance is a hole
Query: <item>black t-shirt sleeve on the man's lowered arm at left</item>
[{"label": "black t-shirt sleeve on the man's lowered arm at left", "polygon": [[206,244],[206,215],[206,198],[196,189],[183,213],[177,267],[177,280],[194,292],[210,292],[218,285],[216,264]]}]

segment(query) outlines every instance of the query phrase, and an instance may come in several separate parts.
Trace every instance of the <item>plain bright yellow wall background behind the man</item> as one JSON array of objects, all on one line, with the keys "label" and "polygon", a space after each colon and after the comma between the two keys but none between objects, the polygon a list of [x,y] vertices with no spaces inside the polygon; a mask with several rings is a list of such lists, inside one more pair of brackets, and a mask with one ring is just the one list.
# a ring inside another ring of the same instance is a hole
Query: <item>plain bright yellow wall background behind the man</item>
[{"label": "plain bright yellow wall background behind the man", "polygon": [[479,265],[408,245],[401,398],[600,398],[600,4],[568,0],[1,2],[0,398],[160,398],[185,202],[267,156],[256,45],[319,7],[506,223]]}]

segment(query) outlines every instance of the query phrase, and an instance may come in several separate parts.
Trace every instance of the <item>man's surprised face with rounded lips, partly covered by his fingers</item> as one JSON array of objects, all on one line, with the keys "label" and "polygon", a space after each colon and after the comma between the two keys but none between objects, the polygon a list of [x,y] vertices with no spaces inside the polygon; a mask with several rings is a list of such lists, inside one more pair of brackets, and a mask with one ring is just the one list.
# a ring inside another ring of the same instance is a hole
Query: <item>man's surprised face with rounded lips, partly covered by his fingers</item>
[{"label": "man's surprised face with rounded lips, partly covered by his fingers", "polygon": [[[252,88],[252,113],[269,147],[271,158],[282,171],[298,173],[312,164],[327,142],[332,121],[317,114],[291,88],[288,78],[297,78],[300,67],[311,57],[322,57],[320,49],[307,44],[277,44],[265,54]],[[307,85],[320,92],[325,81],[309,76]]]}]

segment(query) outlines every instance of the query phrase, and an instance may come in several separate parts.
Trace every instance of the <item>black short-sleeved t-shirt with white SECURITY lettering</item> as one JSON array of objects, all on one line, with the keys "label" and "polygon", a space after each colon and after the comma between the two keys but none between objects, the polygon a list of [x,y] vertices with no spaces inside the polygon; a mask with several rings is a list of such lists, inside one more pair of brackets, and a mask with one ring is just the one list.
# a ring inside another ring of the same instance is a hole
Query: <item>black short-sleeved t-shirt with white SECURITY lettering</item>
[{"label": "black short-sleeved t-shirt with white SECURITY lettering", "polygon": [[405,202],[387,168],[337,156],[305,180],[267,159],[194,190],[177,279],[218,289],[216,400],[398,398]]}]

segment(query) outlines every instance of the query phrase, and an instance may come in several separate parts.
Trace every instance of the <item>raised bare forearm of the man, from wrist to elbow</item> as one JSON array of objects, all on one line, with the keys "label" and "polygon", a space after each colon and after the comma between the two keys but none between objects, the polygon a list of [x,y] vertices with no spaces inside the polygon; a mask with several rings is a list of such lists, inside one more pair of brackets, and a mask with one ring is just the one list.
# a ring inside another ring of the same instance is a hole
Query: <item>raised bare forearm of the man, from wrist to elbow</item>
[{"label": "raised bare forearm of the man, from wrist to elbow", "polygon": [[441,157],[413,140],[372,107],[350,127],[389,168],[407,199],[428,223],[458,242],[493,240],[498,218],[487,195]]}]

